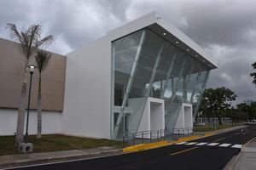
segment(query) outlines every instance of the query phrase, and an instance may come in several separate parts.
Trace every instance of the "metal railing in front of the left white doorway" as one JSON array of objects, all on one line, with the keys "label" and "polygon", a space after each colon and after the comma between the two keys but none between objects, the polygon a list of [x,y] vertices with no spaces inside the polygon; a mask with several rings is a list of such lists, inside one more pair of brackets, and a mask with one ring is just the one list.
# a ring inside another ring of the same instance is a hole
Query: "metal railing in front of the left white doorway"
[{"label": "metal railing in front of the left white doorway", "polygon": [[123,135],[123,144],[125,144],[125,142],[131,142],[131,144],[134,145],[137,143],[143,144],[145,142],[152,142],[153,140],[165,140],[165,133],[166,131],[164,129],[128,133]]}]

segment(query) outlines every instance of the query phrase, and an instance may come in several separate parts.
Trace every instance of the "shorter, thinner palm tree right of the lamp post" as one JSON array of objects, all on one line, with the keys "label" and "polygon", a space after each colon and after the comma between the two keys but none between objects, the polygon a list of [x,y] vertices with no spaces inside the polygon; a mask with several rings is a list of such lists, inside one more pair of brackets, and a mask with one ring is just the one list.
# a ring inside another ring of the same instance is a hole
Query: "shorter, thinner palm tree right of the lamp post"
[{"label": "shorter, thinner palm tree right of the lamp post", "polygon": [[38,64],[39,71],[39,83],[38,83],[38,136],[41,138],[42,133],[42,99],[41,99],[41,77],[42,71],[44,71],[49,63],[51,54],[49,52],[38,50],[38,54],[35,56],[35,59]]}]

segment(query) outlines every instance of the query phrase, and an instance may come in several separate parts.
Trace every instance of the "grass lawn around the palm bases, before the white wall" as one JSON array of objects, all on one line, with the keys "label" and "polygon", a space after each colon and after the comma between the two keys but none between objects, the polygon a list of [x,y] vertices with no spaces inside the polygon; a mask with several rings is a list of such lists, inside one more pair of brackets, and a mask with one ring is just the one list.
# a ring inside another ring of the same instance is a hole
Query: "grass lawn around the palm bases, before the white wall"
[{"label": "grass lawn around the palm bases, before the white wall", "polygon": [[[115,140],[80,138],[61,134],[46,134],[42,136],[42,139],[37,139],[35,135],[32,135],[29,136],[28,141],[33,144],[33,152],[80,150],[123,144]],[[0,136],[0,156],[19,153],[15,146],[15,136]]]}]

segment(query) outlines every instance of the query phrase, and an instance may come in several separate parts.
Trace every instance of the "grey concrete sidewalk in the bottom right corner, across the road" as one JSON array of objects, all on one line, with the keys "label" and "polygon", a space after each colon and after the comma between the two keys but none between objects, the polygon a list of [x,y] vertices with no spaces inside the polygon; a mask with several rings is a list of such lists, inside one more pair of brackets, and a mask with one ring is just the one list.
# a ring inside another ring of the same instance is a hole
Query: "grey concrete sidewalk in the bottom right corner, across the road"
[{"label": "grey concrete sidewalk in the bottom right corner, across the road", "polygon": [[256,169],[256,137],[252,142],[241,148],[238,156],[234,156],[224,170],[254,170]]}]

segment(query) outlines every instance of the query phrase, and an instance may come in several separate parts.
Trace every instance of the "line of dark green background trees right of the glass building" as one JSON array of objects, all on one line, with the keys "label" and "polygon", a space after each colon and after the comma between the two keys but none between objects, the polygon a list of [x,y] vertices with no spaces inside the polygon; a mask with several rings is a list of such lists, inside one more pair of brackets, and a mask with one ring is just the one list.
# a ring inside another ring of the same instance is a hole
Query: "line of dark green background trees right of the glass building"
[{"label": "line of dark green background trees right of the glass building", "polygon": [[201,117],[218,117],[219,124],[222,124],[221,117],[230,117],[232,122],[255,119],[256,101],[247,100],[235,108],[231,105],[235,100],[236,94],[229,88],[207,88],[202,94]]}]

